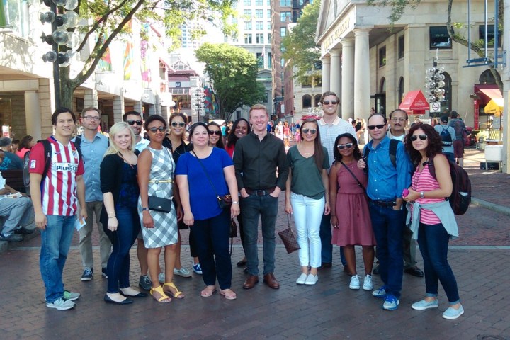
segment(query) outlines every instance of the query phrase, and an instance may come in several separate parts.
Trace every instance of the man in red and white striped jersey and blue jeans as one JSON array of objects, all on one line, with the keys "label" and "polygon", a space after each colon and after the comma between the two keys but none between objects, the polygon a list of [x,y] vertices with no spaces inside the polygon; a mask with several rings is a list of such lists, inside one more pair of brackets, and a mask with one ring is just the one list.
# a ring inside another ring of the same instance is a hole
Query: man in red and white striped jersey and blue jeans
[{"label": "man in red and white striped jersey and blue jeans", "polygon": [[[74,231],[77,215],[86,219],[84,164],[70,142],[76,116],[69,108],[57,108],[52,114],[55,135],[51,145],[51,164],[45,178],[44,145],[38,143],[30,152],[30,193],[35,210],[35,225],[41,229],[40,271],[46,288],[46,306],[57,310],[74,307],[79,293],[64,290],[62,272]],[[77,212],[78,206],[81,207]]]}]

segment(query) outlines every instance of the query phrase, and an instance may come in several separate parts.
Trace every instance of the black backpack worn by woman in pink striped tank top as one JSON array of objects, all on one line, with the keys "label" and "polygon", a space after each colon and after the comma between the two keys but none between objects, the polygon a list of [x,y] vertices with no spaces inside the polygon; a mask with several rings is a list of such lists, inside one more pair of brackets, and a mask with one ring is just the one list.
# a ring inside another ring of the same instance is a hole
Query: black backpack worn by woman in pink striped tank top
[{"label": "black backpack worn by woman in pink striped tank top", "polygon": [[[471,181],[467,172],[455,162],[448,160],[452,179],[452,193],[448,201],[455,215],[464,215],[471,203]],[[429,159],[429,171],[433,179],[437,180],[433,159]]]}]

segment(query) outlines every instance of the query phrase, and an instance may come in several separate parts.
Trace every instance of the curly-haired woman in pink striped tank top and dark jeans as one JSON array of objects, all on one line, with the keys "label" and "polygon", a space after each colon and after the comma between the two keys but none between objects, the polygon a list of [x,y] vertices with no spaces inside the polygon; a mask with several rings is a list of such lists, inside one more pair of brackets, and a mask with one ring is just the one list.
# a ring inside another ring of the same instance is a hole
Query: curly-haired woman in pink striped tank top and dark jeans
[{"label": "curly-haired woman in pink striped tank top and dark jeans", "polygon": [[[443,312],[443,317],[457,319],[464,314],[464,309],[460,305],[457,281],[448,263],[448,242],[458,237],[455,215],[450,203],[445,200],[453,188],[450,165],[446,156],[441,154],[441,137],[431,125],[414,125],[404,142],[416,166],[409,194],[404,195],[409,210],[407,220],[411,221],[413,238],[418,239],[424,260],[426,288],[424,299],[414,302],[411,307],[414,310],[439,307],[438,281],[440,281],[450,304]],[[436,178],[431,175],[430,162],[433,162]]]}]

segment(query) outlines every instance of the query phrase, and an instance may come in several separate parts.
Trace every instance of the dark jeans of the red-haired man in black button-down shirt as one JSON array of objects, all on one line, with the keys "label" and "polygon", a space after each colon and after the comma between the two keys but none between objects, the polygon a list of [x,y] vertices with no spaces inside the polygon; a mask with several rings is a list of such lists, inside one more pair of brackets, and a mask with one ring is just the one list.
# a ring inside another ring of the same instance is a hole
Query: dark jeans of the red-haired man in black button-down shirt
[{"label": "dark jeans of the red-haired man in black button-down shirt", "polygon": [[259,216],[262,220],[263,237],[263,274],[273,273],[275,269],[275,224],[278,215],[278,198],[270,195],[251,195],[241,198],[241,217],[244,225],[244,254],[247,271],[259,275]]}]

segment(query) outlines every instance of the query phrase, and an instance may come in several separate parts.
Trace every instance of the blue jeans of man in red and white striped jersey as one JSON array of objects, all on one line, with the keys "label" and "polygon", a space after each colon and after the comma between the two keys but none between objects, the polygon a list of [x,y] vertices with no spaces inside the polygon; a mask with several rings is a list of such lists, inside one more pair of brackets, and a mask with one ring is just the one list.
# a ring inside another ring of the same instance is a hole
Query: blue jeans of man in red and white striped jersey
[{"label": "blue jeans of man in red and white striped jersey", "polygon": [[47,215],[46,229],[41,230],[39,266],[46,288],[46,301],[64,297],[62,273],[71,246],[76,215]]}]

